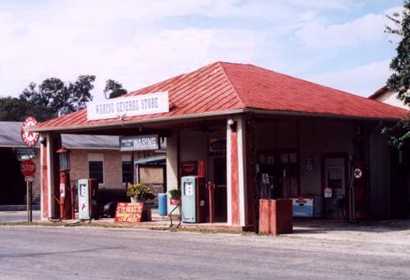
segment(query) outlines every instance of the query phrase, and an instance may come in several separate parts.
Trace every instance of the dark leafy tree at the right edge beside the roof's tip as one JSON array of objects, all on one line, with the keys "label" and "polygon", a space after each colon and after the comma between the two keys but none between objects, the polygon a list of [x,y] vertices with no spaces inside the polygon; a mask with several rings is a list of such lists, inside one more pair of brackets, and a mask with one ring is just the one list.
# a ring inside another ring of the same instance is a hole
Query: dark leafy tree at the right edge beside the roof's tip
[{"label": "dark leafy tree at the right edge beside the roof's tip", "polygon": [[[397,54],[390,63],[393,71],[387,80],[387,87],[397,92],[397,97],[410,106],[410,0],[404,2],[403,12],[387,16],[393,26],[386,27],[386,32],[397,35],[400,41]],[[410,142],[410,119],[401,120],[393,127],[385,128],[384,133],[398,149],[404,149]]]}]

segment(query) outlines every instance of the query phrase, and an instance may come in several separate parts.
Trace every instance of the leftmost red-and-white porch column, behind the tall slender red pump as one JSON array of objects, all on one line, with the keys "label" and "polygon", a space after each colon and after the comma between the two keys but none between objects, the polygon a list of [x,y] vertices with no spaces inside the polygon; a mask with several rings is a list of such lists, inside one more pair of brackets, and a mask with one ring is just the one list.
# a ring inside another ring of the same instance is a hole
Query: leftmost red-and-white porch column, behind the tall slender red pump
[{"label": "leftmost red-and-white porch column, behind the tall slender red pump", "polygon": [[57,217],[55,190],[58,189],[58,161],[55,151],[61,145],[60,135],[40,135],[41,219]]}]

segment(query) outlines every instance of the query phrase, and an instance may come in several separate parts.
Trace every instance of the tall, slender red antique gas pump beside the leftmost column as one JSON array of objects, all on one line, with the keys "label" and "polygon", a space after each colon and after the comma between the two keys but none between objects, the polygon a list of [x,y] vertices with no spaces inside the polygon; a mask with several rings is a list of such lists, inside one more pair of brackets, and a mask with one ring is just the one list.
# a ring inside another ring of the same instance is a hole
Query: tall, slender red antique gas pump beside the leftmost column
[{"label": "tall, slender red antique gas pump beside the leftmost column", "polygon": [[74,219],[71,205],[72,192],[70,188],[70,152],[61,148],[57,150],[60,166],[60,196],[58,204],[60,206],[60,219]]}]

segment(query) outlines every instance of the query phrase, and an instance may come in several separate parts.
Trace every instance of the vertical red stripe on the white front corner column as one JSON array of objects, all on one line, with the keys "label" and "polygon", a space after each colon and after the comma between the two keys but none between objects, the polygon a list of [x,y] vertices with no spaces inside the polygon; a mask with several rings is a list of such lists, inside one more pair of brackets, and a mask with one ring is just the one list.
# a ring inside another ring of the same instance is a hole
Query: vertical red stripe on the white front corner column
[{"label": "vertical red stripe on the white front corner column", "polygon": [[240,224],[238,168],[238,133],[231,131],[231,210],[233,225]]}]

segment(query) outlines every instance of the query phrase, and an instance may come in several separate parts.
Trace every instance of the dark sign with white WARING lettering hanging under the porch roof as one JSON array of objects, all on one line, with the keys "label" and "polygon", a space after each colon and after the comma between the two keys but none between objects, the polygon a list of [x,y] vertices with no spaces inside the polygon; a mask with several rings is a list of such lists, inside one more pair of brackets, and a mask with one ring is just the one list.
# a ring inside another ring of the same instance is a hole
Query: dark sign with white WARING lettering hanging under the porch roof
[{"label": "dark sign with white WARING lettering hanging under the porch roof", "polygon": [[121,137],[120,149],[123,152],[158,150],[159,137],[155,134]]}]

